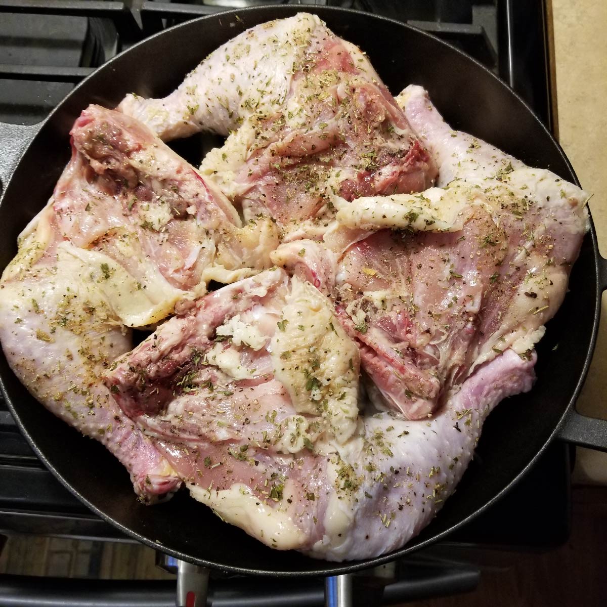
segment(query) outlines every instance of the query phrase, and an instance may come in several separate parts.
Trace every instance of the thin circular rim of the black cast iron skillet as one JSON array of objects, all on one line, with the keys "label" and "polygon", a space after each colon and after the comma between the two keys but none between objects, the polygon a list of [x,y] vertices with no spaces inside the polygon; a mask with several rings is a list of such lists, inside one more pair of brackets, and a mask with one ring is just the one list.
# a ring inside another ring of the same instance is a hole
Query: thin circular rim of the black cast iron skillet
[{"label": "thin circular rim of the black cast iron skillet", "polygon": [[[319,8],[320,8],[320,10],[319,10]],[[297,9],[299,9],[299,10],[297,10]],[[510,89],[510,87],[507,86],[507,84],[504,83],[504,81],[500,80],[500,78],[498,78],[498,76],[496,76],[489,69],[487,69],[487,67],[485,67],[479,61],[477,61],[476,59],[467,55],[463,51],[457,49],[452,44],[449,44],[449,42],[445,42],[445,41],[441,40],[440,38],[438,38],[437,36],[432,35],[429,32],[425,32],[424,30],[420,30],[416,27],[413,27],[412,25],[405,24],[404,22],[398,21],[396,19],[391,19],[391,18],[387,18],[384,16],[380,16],[380,15],[372,15],[370,13],[364,13],[364,12],[349,9],[349,8],[314,7],[311,5],[302,5],[301,7],[297,7],[294,5],[277,5],[277,6],[276,5],[272,5],[272,6],[266,5],[266,6],[262,6],[262,7],[248,7],[248,8],[242,8],[242,9],[226,10],[226,11],[222,11],[222,12],[213,13],[212,15],[205,15],[205,16],[202,16],[197,19],[192,19],[190,21],[186,21],[186,22],[174,25],[166,30],[157,32],[157,33],[149,36],[148,38],[145,38],[145,39],[137,42],[129,49],[124,50],[120,54],[116,55],[114,58],[107,61],[107,63],[103,64],[103,66],[100,66],[97,70],[95,70],[95,72],[91,73],[83,81],[81,81],[80,84],[75,86],[74,89],[55,108],[53,108],[53,110],[50,112],[50,114],[39,123],[40,128],[39,128],[38,132],[34,135],[32,140],[29,141],[29,143],[24,147],[22,154],[19,157],[19,160],[15,163],[15,167],[13,168],[12,174],[11,174],[10,178],[8,179],[7,183],[5,184],[4,191],[2,192],[2,197],[0,198],[0,204],[4,203],[5,197],[7,197],[7,193],[10,192],[13,175],[15,175],[16,172],[19,170],[19,165],[21,164],[21,161],[22,161],[22,158],[24,157],[24,155],[27,153],[27,151],[30,149],[30,147],[36,143],[36,140],[39,136],[39,132],[44,128],[44,126],[46,126],[46,124],[49,121],[52,120],[52,118],[56,114],[56,112],[58,112],[59,109],[61,107],[63,107],[64,104],[68,100],[70,100],[70,98],[75,96],[80,91],[81,87],[85,86],[90,80],[94,79],[98,75],[98,73],[101,72],[101,70],[106,69],[106,68],[111,69],[112,65],[115,62],[120,61],[120,59],[123,57],[123,55],[126,55],[126,53],[131,52],[131,50],[138,49],[140,46],[143,46],[148,43],[153,44],[153,41],[158,36],[169,35],[169,32],[173,32],[174,30],[178,30],[178,29],[184,28],[184,27],[200,27],[199,24],[203,24],[206,21],[212,21],[212,20],[218,19],[218,18],[221,19],[222,17],[236,18],[236,16],[239,16],[239,15],[244,16],[244,15],[246,15],[246,13],[249,13],[249,12],[270,13],[272,16],[271,16],[271,18],[268,19],[268,21],[277,19],[277,18],[281,18],[281,16],[278,16],[277,13],[283,13],[282,16],[294,15],[297,12],[310,12],[313,14],[341,13],[342,15],[346,15],[346,16],[350,15],[350,14],[356,14],[358,16],[363,15],[365,19],[368,19],[370,21],[376,20],[378,22],[388,22],[390,24],[398,25],[399,27],[404,27],[407,30],[412,30],[418,34],[429,37],[434,42],[438,42],[439,44],[444,45],[445,47],[448,47],[452,51],[455,51],[456,53],[461,55],[463,58],[467,59],[467,61],[469,61],[469,62],[471,61],[473,64],[476,65],[476,67],[480,67],[482,70],[484,70],[484,72],[487,73],[487,75],[492,76],[493,79],[495,79],[498,83],[500,83],[500,85],[502,87],[504,87],[504,89],[506,89],[507,94],[514,95],[514,97],[517,98],[518,102],[524,106],[524,108],[527,110],[527,112],[529,112],[529,114],[532,115],[535,122],[541,127],[541,129],[543,129],[545,134],[548,135],[552,144],[557,149],[558,154],[560,155],[562,160],[565,162],[567,168],[571,172],[571,175],[574,178],[574,183],[579,185],[577,175],[575,175],[575,171],[572,168],[571,163],[569,162],[568,158],[566,157],[565,152],[561,148],[560,144],[558,143],[558,141],[555,140],[554,136],[547,129],[547,127],[543,124],[543,122],[537,117],[535,112],[531,109],[531,107],[529,107],[529,105],[526,103],[526,101],[524,101],[520,97],[520,95],[518,95],[518,93],[516,93],[516,92],[514,92],[514,90]],[[236,35],[237,33],[239,33],[239,32],[234,32],[234,35]],[[589,234],[587,235],[587,237],[589,237],[591,239],[591,248],[592,248],[592,253],[593,253],[592,261],[594,262],[594,273],[598,280],[599,249],[598,249],[598,245],[597,245],[597,237],[596,237],[596,233],[595,233],[595,229],[594,229],[594,223],[592,222],[591,215],[589,215],[589,219],[590,219],[590,229],[589,229]],[[599,283],[597,282],[597,285],[598,284]],[[527,463],[526,466],[524,466],[523,469],[521,469],[520,472],[517,475],[515,475],[514,478],[512,478],[512,480],[510,480],[506,484],[505,487],[503,487],[503,489],[501,489],[489,501],[485,502],[483,504],[483,506],[476,509],[474,512],[469,514],[466,518],[459,520],[458,523],[453,524],[451,527],[449,527],[449,529],[446,529],[443,532],[440,532],[439,534],[433,535],[432,537],[429,537],[426,540],[423,540],[413,546],[407,546],[407,544],[405,544],[405,546],[403,546],[402,548],[400,548],[396,551],[390,552],[390,554],[385,554],[385,555],[373,557],[373,558],[362,560],[362,561],[344,561],[344,563],[339,563],[339,564],[333,563],[331,561],[323,561],[323,560],[316,561],[316,560],[311,559],[311,561],[313,560],[314,562],[323,564],[324,566],[314,568],[314,569],[307,569],[305,571],[297,571],[297,572],[281,571],[281,570],[274,571],[272,569],[246,568],[246,567],[242,567],[242,566],[232,566],[232,565],[225,565],[222,563],[215,563],[214,561],[208,561],[208,560],[201,559],[201,558],[193,558],[188,554],[171,549],[168,546],[164,546],[164,544],[160,544],[157,541],[144,537],[143,535],[141,535],[137,532],[131,531],[131,529],[128,529],[126,526],[124,526],[124,524],[121,524],[120,522],[118,522],[117,520],[114,520],[114,518],[110,517],[109,515],[104,514],[104,512],[102,510],[100,510],[97,506],[94,506],[92,503],[90,503],[89,500],[87,500],[83,495],[81,495],[81,493],[78,490],[76,490],[71,484],[69,484],[63,478],[63,475],[61,475],[61,473],[55,468],[55,466],[53,466],[53,464],[50,463],[50,461],[49,461],[49,459],[47,459],[46,455],[44,455],[44,453],[42,453],[39,450],[39,448],[36,446],[32,437],[30,436],[29,432],[27,431],[24,424],[22,423],[21,418],[19,418],[18,413],[16,412],[15,408],[13,407],[12,401],[10,400],[10,398],[8,398],[7,391],[6,391],[5,385],[4,385],[4,378],[2,378],[2,376],[0,376],[0,389],[2,390],[2,393],[5,397],[5,401],[7,402],[8,409],[12,413],[13,418],[15,418],[15,421],[16,421],[17,426],[19,427],[19,430],[21,430],[21,433],[25,436],[28,443],[30,444],[32,449],[35,451],[36,455],[38,455],[38,457],[41,459],[42,463],[47,467],[47,469],[49,469],[50,472],[53,474],[53,476],[55,476],[55,478],[57,478],[59,480],[59,482],[61,482],[61,484],[63,484],[63,486],[66,487],[66,489],[68,489],[73,495],[75,495],[75,497],[78,498],[78,500],[80,500],[90,510],[92,510],[92,512],[95,512],[95,514],[97,514],[100,518],[102,518],[107,523],[110,523],[110,524],[112,524],[112,526],[120,529],[120,531],[123,532],[125,535],[130,536],[130,537],[134,538],[135,540],[140,541],[141,543],[146,544],[147,546],[149,546],[151,548],[154,548],[156,550],[161,550],[163,552],[166,552],[166,554],[170,554],[176,558],[180,558],[181,560],[185,560],[185,561],[188,561],[191,563],[196,563],[198,565],[202,565],[202,566],[212,568],[212,569],[220,569],[222,571],[229,571],[234,574],[276,575],[276,576],[280,576],[280,577],[295,577],[295,576],[299,577],[299,576],[344,574],[344,573],[360,571],[362,569],[367,569],[367,568],[370,568],[373,566],[378,566],[378,565],[382,565],[384,563],[388,563],[390,561],[401,558],[406,554],[410,554],[411,552],[426,548],[427,546],[435,543],[436,541],[443,540],[449,534],[451,534],[452,532],[461,528],[464,524],[469,523],[474,518],[478,517],[478,515],[480,515],[482,512],[487,510],[490,506],[492,506],[498,500],[500,500],[502,497],[504,497],[504,495],[506,495],[506,493],[509,492],[515,486],[515,484],[517,484],[517,482],[520,480],[520,478],[522,478],[524,475],[526,475],[526,473],[529,471],[529,469],[531,469],[531,467],[533,467],[535,465],[535,463],[537,462],[537,459],[540,458],[540,456],[544,453],[544,451],[547,449],[549,444],[552,443],[552,441],[554,440],[555,436],[558,433],[558,430],[561,428],[561,426],[563,426],[566,416],[569,415],[571,407],[574,405],[575,400],[578,398],[580,391],[582,390],[582,386],[585,382],[586,376],[588,375],[588,369],[589,369],[589,365],[592,361],[592,355],[594,354],[594,348],[595,348],[595,344],[596,344],[597,331],[598,331],[598,325],[599,325],[599,319],[600,319],[600,300],[601,300],[601,291],[600,291],[600,289],[597,288],[597,297],[595,298],[594,318],[593,318],[593,322],[592,322],[591,341],[589,344],[588,351],[586,353],[586,357],[583,361],[582,373],[580,374],[580,377],[578,378],[577,384],[575,385],[571,398],[569,398],[569,402],[568,402],[567,406],[563,410],[563,414],[561,415],[560,420],[555,425],[554,430],[552,430],[551,435],[548,437],[548,439],[546,439],[543,446],[540,449],[538,449],[537,452],[535,452],[534,456],[531,458],[529,463]]]}]

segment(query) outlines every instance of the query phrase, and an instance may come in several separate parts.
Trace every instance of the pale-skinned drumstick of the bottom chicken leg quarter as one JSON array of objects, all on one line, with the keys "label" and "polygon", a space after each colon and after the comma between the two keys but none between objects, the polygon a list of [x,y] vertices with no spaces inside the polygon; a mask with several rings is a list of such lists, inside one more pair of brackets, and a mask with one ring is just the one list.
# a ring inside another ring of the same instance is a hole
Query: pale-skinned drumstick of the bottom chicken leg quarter
[{"label": "pale-skinned drumstick of the bottom chicken leg quarter", "polygon": [[370,558],[418,535],[453,493],[493,407],[531,390],[534,363],[535,353],[524,361],[506,350],[453,390],[443,409],[426,421],[367,410],[361,435],[348,441],[349,453],[342,455],[356,475],[348,483],[351,500],[341,536],[317,543],[311,555]]}]

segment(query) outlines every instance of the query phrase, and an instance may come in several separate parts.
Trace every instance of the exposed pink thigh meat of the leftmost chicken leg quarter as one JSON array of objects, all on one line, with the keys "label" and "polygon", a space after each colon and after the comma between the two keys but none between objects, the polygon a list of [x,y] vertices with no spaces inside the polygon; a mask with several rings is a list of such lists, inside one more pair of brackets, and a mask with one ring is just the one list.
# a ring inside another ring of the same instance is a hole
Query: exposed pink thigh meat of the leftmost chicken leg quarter
[{"label": "exposed pink thigh meat of the leftmost chicken leg quarter", "polygon": [[271,265],[274,224],[260,219],[242,227],[222,192],[136,120],[90,106],[72,140],[73,166],[54,208],[63,236],[76,246],[107,254],[142,285],[160,283],[177,297]]}]

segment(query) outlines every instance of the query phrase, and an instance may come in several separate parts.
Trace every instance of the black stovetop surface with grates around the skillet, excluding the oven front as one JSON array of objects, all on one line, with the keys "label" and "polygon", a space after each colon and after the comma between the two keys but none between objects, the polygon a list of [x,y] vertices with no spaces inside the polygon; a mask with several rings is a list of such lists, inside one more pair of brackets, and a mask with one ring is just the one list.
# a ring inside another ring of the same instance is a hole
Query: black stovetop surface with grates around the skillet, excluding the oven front
[{"label": "black stovetop surface with grates around the skillet, excluding the oven front", "polygon": [[[452,42],[500,75],[551,123],[543,4],[526,0],[206,0],[122,2],[2,0],[0,121],[42,120],[92,69],[137,39],[175,22],[256,4],[338,5],[409,22]],[[96,5],[91,12],[92,4]],[[46,14],[36,14],[43,10]],[[23,14],[26,13],[26,14]],[[550,548],[569,535],[570,449],[555,443],[506,497],[449,537],[449,543]],[[0,532],[121,538],[64,489],[36,458],[0,402]]]}]

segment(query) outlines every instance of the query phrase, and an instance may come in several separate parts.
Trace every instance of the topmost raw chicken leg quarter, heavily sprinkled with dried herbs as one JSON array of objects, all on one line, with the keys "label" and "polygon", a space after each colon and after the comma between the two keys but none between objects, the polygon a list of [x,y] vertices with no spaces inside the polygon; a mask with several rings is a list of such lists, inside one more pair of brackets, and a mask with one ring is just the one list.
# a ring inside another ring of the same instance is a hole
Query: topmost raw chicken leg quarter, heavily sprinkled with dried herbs
[{"label": "topmost raw chicken leg quarter, heavily sprinkled with dried herbs", "polygon": [[130,95],[120,109],[163,138],[231,131],[203,175],[245,220],[270,215],[290,239],[322,236],[332,192],[417,192],[436,177],[367,57],[305,13],[237,36],[163,100]]}]

